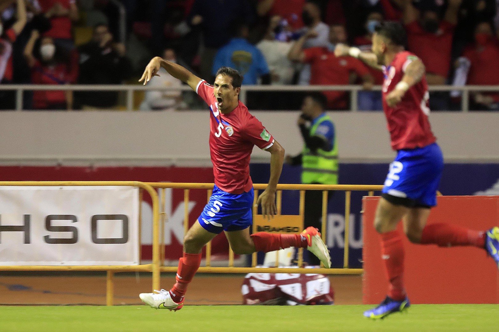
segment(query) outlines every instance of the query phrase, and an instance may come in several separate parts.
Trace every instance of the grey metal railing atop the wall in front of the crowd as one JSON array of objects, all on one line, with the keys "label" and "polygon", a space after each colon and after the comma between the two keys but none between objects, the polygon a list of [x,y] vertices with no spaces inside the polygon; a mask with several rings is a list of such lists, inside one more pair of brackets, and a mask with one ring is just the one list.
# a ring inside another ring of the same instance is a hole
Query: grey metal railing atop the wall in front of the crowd
[{"label": "grey metal railing atop the wall in front of the crowd", "polygon": [[[174,87],[151,87],[142,85],[35,85],[35,84],[0,84],[0,91],[15,91],[15,111],[23,111],[24,91],[121,91],[126,94],[125,108],[134,111],[136,91],[192,91],[188,86]],[[246,103],[248,92],[310,92],[310,91],[347,91],[350,92],[350,111],[358,111],[357,94],[363,91],[360,85],[256,85],[243,86],[241,89],[241,101]],[[372,91],[381,91],[381,86],[374,86]],[[499,92],[498,86],[467,85],[455,87],[451,85],[430,86],[430,92],[461,91],[461,111],[470,111],[470,93],[472,92]]]}]

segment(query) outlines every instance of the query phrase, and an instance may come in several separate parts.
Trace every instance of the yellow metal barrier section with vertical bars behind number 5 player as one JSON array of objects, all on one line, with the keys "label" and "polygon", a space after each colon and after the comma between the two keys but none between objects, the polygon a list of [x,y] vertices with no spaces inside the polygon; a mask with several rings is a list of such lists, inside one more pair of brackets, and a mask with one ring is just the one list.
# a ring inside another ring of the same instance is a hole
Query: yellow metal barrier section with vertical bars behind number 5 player
[{"label": "yellow metal barrier section with vertical bars behind number 5 player", "polygon": [[[153,188],[158,189],[183,189],[184,190],[184,230],[187,232],[189,225],[189,190],[190,189],[206,189],[208,192],[208,200],[210,199],[213,183],[173,183],[173,182],[149,182],[147,183]],[[265,189],[266,184],[254,184],[254,202],[258,197],[258,191]],[[228,267],[212,267],[211,266],[211,242],[207,244],[206,248],[206,266],[198,269],[201,273],[323,273],[323,274],[362,274],[363,269],[351,269],[348,267],[349,255],[349,222],[350,222],[350,199],[352,191],[367,191],[369,196],[374,195],[374,191],[380,191],[383,186],[380,185],[305,185],[305,184],[278,184],[276,193],[277,215],[281,214],[282,206],[282,190],[299,190],[300,203],[299,215],[303,218],[305,209],[305,190],[320,190],[322,191],[322,239],[326,240],[326,220],[327,220],[327,191],[345,191],[345,249],[343,256],[343,268],[340,269],[325,269],[321,264],[321,268],[304,269],[304,268],[257,268],[256,266],[256,253],[252,254],[251,267],[234,267],[234,252],[229,248],[229,266]],[[162,202],[163,204],[163,202]],[[164,207],[162,207],[164,211]],[[256,216],[257,208],[253,207],[253,218]],[[253,225],[254,226],[254,225]],[[255,229],[253,228],[253,231]],[[164,251],[164,247],[162,247]],[[301,266],[303,261],[303,249],[298,250],[298,266]],[[162,261],[163,262],[163,261]],[[278,263],[278,256],[276,257],[276,264]],[[153,262],[154,265],[154,262]],[[163,265],[163,264],[161,264]],[[177,272],[177,266],[161,266],[161,272]]]}]

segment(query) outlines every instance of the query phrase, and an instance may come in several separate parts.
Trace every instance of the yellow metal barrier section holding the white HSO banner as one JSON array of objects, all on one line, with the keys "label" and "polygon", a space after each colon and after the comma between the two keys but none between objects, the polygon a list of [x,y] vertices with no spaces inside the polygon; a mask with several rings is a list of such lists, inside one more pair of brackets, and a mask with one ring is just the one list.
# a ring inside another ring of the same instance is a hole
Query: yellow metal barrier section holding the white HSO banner
[{"label": "yellow metal barrier section holding the white HSO banner", "polygon": [[[25,266],[0,266],[0,271],[107,271],[106,276],[106,305],[113,305],[115,272],[152,272],[153,289],[160,286],[160,246],[159,246],[159,204],[156,190],[150,185],[138,181],[9,181],[0,182],[0,186],[17,187],[68,187],[68,186],[128,186],[139,188],[139,198],[142,198],[142,191],[146,190],[151,195],[153,203],[153,261],[152,264],[145,265],[73,265],[73,266],[48,266],[48,265],[25,265]],[[140,207],[140,202],[139,202]],[[140,244],[140,208],[139,208],[139,244]],[[139,245],[140,248],[140,245]],[[140,250],[140,249],[139,249]]]}]

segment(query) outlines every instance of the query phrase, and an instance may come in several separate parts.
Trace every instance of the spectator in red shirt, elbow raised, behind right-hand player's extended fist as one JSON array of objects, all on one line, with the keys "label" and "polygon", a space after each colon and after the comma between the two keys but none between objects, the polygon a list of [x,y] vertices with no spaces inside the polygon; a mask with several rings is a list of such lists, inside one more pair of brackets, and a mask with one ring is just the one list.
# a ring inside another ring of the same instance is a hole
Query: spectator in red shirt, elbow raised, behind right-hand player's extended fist
[{"label": "spectator in red shirt, elbow raised, behind right-hand player's extended fist", "polygon": [[[327,47],[303,49],[306,38],[314,37],[313,30],[300,37],[291,47],[288,58],[291,61],[309,63],[311,65],[311,85],[347,85],[354,83],[353,77],[360,78],[364,89],[370,90],[374,80],[367,67],[353,57],[336,57],[334,49],[337,43],[345,43],[347,36],[343,25],[331,25]],[[352,75],[353,74],[353,75]],[[325,91],[327,108],[346,110],[348,93],[344,91]]]}]

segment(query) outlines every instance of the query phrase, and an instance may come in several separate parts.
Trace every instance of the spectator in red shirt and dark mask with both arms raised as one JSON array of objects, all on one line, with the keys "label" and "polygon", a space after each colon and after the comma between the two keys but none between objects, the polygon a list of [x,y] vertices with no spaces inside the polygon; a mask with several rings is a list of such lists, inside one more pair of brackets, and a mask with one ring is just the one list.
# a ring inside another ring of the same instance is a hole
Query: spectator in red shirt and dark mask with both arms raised
[{"label": "spectator in red shirt and dark mask with both arms raised", "polygon": [[[408,49],[425,64],[428,84],[444,85],[449,74],[452,40],[462,0],[448,1],[443,20],[440,20],[434,8],[416,9],[412,0],[405,1],[404,24]],[[430,108],[446,109],[446,96],[441,93],[430,94]]]}]

